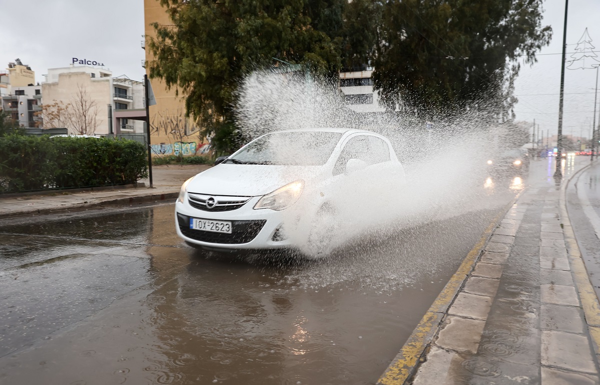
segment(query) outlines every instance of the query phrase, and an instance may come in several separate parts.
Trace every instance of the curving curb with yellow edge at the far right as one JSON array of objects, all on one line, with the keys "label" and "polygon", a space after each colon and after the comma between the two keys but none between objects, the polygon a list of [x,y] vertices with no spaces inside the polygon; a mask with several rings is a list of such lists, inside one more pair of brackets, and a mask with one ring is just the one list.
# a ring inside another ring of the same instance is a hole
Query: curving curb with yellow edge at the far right
[{"label": "curving curb with yellow edge at the far right", "polygon": [[575,237],[575,233],[571,226],[571,220],[569,219],[569,213],[566,208],[566,189],[568,184],[574,180],[575,176],[592,166],[592,164],[593,163],[590,163],[577,170],[577,172],[571,175],[571,177],[560,186],[559,207],[560,218],[563,224],[563,234],[565,237],[569,262],[572,267],[575,287],[577,288],[577,293],[581,300],[581,307],[583,308],[587,329],[590,332],[592,347],[595,354],[598,355],[600,354],[600,304],[592,282],[590,281],[590,277],[587,274],[586,265],[583,262],[583,256],[581,256],[577,238]]}]

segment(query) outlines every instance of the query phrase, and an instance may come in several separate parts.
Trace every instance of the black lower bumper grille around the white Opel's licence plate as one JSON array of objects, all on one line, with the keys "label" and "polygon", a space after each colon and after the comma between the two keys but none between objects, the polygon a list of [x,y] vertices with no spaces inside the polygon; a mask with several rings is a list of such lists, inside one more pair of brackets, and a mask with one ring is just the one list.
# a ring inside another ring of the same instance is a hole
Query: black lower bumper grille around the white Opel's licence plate
[{"label": "black lower bumper grille around the white Opel's licence plate", "polygon": [[[210,219],[208,219],[210,220]],[[190,217],[177,213],[179,230],[185,237],[196,241],[239,244],[248,243],[259,234],[266,220],[232,220],[232,234],[190,229]]]}]

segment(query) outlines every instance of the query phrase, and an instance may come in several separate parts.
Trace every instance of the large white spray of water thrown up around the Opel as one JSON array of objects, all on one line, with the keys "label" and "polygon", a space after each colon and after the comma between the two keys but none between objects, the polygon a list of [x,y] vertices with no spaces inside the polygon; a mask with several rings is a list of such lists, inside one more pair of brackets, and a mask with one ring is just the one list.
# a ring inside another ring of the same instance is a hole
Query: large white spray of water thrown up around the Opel
[{"label": "large white spray of water thrown up around the Opel", "polygon": [[[344,103],[335,84],[272,72],[246,77],[238,100],[238,126],[249,139],[290,129],[354,128],[376,132],[391,141],[406,171],[402,186],[389,190],[385,181],[365,180],[364,186],[356,181],[356,194],[342,192],[340,201],[334,202],[341,217],[336,235],[339,243],[373,229],[377,229],[375,238],[389,238],[399,228],[415,228],[495,204],[482,188],[485,160],[505,145],[508,135],[502,125],[482,125],[473,113],[453,115],[452,121],[440,115],[428,129],[422,120],[401,114],[357,113]],[[317,144],[295,145],[293,153],[301,154]],[[373,204],[356,204],[356,199]],[[385,204],[377,204],[381,201]],[[297,212],[289,210],[289,220]],[[310,245],[304,246],[310,250]]]}]

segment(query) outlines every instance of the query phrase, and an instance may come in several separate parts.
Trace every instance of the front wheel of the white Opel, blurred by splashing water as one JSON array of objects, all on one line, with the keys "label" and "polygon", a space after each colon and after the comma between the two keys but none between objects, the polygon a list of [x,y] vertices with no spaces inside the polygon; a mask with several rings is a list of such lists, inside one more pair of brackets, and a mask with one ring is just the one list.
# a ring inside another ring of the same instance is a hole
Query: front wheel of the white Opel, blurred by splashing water
[{"label": "front wheel of the white Opel, blurred by splashing water", "polygon": [[337,211],[331,204],[323,204],[314,216],[308,234],[307,256],[323,259],[334,249],[338,229]]}]

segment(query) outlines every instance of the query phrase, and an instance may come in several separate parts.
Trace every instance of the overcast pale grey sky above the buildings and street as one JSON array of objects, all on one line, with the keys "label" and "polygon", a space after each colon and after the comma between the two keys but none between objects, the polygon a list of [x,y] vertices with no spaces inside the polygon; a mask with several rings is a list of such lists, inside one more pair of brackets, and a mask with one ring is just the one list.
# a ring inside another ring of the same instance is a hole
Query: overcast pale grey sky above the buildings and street
[{"label": "overcast pale grey sky above the buildings and street", "polygon": [[[10,17],[0,23],[0,68],[18,57],[35,71],[37,81],[43,81],[41,75],[48,68],[68,66],[78,57],[103,62],[114,76],[142,80],[143,0],[19,0],[4,2],[1,8]],[[542,49],[538,63],[522,66],[516,83],[516,112],[517,120],[536,119],[541,129],[556,134],[565,0],[547,0],[544,8],[542,23],[552,26],[553,40]],[[25,14],[27,19],[16,17]],[[568,52],[575,50],[587,27],[600,56],[599,16],[599,0],[569,2],[567,44],[573,45],[568,46]],[[567,60],[571,60],[570,55]],[[579,136],[583,132],[589,137],[586,133],[591,132],[595,81],[594,69],[566,71],[565,134]]]}]

